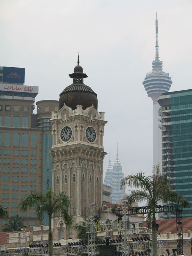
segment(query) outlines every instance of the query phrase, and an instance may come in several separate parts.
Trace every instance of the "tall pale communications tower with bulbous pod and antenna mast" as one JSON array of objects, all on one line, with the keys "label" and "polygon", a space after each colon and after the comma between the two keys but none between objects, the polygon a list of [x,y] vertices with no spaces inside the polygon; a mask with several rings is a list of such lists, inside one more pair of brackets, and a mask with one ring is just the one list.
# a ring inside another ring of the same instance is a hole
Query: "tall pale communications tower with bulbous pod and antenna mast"
[{"label": "tall pale communications tower with bulbous pod and antenna mast", "polygon": [[162,173],[162,139],[161,130],[159,129],[159,108],[157,98],[163,92],[168,92],[172,80],[169,73],[163,72],[163,61],[159,60],[159,44],[158,44],[158,20],[156,13],[156,55],[155,60],[152,62],[152,71],[147,73],[143,80],[143,85],[147,91],[148,97],[153,100],[153,165],[160,164]]}]

